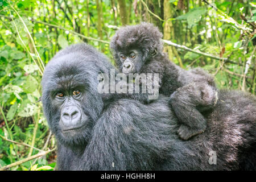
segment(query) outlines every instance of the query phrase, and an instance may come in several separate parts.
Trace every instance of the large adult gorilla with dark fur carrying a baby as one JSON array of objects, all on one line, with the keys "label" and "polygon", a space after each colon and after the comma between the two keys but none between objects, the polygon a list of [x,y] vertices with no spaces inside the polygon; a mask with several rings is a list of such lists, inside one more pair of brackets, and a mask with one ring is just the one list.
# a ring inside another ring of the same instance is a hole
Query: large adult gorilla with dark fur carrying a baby
[{"label": "large adult gorilla with dark fur carrying a baby", "polygon": [[[65,48],[49,61],[42,101],[57,139],[57,169],[256,169],[254,96],[221,91],[205,133],[183,141],[168,98],[149,105],[104,100],[97,76],[110,68],[106,57],[86,44]],[[217,154],[216,164],[208,162],[210,151]]]}]

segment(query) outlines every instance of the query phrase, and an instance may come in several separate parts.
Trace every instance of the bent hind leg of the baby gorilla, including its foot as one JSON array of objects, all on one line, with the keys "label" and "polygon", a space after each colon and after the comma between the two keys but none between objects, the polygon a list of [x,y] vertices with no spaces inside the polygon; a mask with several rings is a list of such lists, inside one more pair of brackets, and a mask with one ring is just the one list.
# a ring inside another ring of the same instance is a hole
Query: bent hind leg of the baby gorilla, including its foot
[{"label": "bent hind leg of the baby gorilla, including its foot", "polygon": [[181,122],[179,137],[187,140],[203,133],[207,121],[200,111],[213,108],[216,102],[216,88],[206,82],[191,82],[171,94],[169,104]]}]

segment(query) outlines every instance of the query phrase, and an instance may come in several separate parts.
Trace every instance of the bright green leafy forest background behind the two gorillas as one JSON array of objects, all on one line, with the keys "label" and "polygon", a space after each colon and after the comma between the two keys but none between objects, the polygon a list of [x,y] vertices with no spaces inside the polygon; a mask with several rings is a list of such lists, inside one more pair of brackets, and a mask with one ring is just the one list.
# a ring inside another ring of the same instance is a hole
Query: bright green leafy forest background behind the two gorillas
[{"label": "bright green leafy forest background behind the two gorillas", "polygon": [[56,142],[39,101],[55,53],[86,42],[112,60],[115,31],[142,21],[185,46],[164,44],[180,67],[202,67],[218,88],[255,94],[255,1],[0,0],[0,170],[55,167]]}]

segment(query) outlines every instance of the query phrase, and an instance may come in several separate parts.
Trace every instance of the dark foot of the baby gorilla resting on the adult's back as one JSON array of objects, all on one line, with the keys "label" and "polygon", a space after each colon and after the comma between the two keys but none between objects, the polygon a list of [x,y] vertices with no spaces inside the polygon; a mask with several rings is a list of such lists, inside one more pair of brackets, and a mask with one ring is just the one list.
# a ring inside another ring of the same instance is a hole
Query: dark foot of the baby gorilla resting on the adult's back
[{"label": "dark foot of the baby gorilla resting on the adult's back", "polygon": [[177,133],[181,139],[188,140],[189,138],[191,138],[195,135],[204,133],[204,130],[205,130],[205,128],[204,129],[191,129],[188,126],[181,125],[179,127],[179,129],[177,130]]}]

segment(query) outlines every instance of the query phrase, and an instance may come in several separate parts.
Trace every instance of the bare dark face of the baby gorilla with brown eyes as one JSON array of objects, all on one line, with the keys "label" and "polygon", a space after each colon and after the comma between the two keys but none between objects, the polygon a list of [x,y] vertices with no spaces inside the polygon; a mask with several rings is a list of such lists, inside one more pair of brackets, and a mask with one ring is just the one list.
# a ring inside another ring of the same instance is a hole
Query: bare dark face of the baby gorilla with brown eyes
[{"label": "bare dark face of the baby gorilla with brown eyes", "polygon": [[142,53],[136,49],[119,52],[119,61],[121,63],[119,64],[119,69],[122,73],[126,75],[129,73],[137,73],[142,67]]}]

